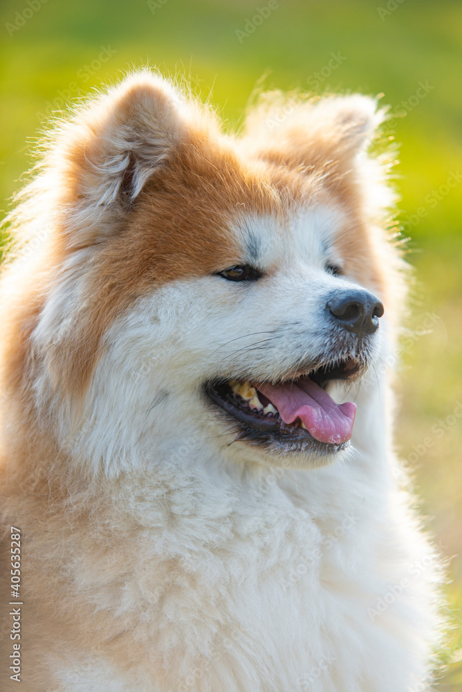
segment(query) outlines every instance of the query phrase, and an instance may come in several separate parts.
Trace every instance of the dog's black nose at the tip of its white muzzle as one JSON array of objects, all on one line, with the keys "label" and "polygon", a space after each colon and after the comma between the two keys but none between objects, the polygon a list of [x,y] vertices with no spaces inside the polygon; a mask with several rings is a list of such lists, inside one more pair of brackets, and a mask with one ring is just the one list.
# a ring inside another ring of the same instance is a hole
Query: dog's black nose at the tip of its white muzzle
[{"label": "dog's black nose at the tip of its white muzzle", "polygon": [[378,327],[378,318],[383,315],[382,303],[368,291],[334,291],[326,308],[344,329],[358,336],[373,334]]}]

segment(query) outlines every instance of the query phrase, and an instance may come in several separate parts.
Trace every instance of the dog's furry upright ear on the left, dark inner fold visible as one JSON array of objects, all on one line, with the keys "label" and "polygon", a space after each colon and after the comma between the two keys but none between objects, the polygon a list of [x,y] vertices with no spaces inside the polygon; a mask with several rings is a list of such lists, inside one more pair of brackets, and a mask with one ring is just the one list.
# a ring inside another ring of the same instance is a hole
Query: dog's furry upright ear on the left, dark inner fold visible
[{"label": "dog's furry upright ear on the left, dark inner fold visible", "polygon": [[182,131],[174,87],[147,71],[133,75],[77,111],[64,127],[59,142],[64,182],[75,201],[96,213],[128,207]]}]

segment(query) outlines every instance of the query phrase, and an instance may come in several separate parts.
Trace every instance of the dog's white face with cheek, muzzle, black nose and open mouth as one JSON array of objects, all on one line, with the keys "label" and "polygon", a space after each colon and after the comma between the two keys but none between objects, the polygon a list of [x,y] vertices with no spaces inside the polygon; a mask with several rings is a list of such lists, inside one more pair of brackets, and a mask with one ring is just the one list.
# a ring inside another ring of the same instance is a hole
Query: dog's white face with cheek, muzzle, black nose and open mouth
[{"label": "dog's white face with cheek, muzzle, black nose and open mouth", "polygon": [[164,392],[178,413],[181,401],[194,402],[185,416],[198,426],[206,417],[216,434],[228,432],[227,444],[267,454],[303,453],[319,463],[347,448],[355,405],[338,406],[326,390],[342,384],[342,401],[373,362],[383,312],[347,275],[336,242],[347,224],[334,201],[286,219],[239,215],[228,229],[237,241],[232,262],[217,257],[212,271],[169,282],[143,302],[143,316],[156,316],[167,332],[160,343],[155,327],[146,334],[153,386],[170,350]]}]

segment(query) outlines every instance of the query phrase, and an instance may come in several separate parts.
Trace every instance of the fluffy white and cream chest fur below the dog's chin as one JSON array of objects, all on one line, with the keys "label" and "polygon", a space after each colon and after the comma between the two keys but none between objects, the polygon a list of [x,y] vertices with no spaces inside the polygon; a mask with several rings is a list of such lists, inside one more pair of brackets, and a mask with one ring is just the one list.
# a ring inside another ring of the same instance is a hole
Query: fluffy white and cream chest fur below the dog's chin
[{"label": "fluffy white and cream chest fur below the dog's chin", "polygon": [[[124,692],[405,689],[434,617],[415,608],[429,572],[371,611],[427,546],[409,553],[405,512],[380,500],[376,464],[368,472],[358,453],[307,478],[183,458],[102,495],[88,537],[74,498],[49,588],[66,590],[71,619],[85,613],[82,642],[89,621],[98,636],[82,659],[57,661],[57,680],[95,692],[108,680]],[[415,660],[400,666],[411,645]]]}]

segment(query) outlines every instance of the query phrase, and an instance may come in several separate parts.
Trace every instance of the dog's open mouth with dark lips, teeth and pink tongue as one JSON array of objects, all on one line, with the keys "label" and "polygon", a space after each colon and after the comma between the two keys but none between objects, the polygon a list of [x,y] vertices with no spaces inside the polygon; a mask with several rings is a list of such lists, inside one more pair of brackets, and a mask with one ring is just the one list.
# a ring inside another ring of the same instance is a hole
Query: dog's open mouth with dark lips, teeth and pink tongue
[{"label": "dog's open mouth with dark lips, teeth and pink tongue", "polygon": [[215,381],[206,392],[237,422],[237,439],[281,451],[333,453],[349,445],[356,406],[335,403],[325,387],[333,380],[354,381],[362,370],[347,358],[275,384]]}]

